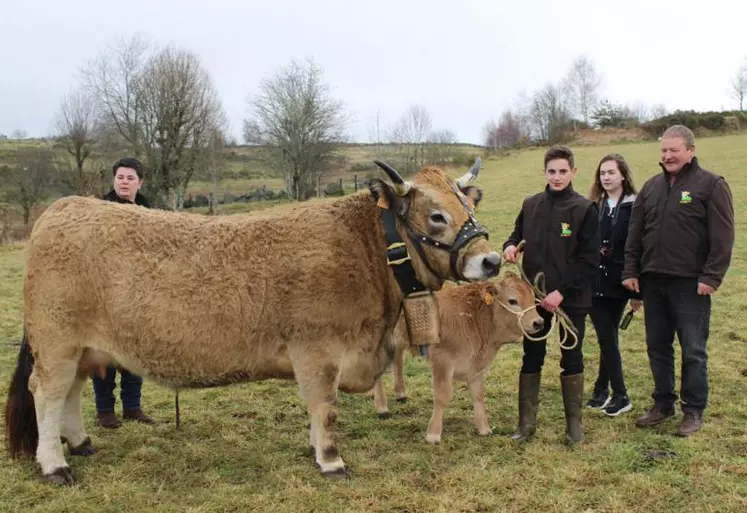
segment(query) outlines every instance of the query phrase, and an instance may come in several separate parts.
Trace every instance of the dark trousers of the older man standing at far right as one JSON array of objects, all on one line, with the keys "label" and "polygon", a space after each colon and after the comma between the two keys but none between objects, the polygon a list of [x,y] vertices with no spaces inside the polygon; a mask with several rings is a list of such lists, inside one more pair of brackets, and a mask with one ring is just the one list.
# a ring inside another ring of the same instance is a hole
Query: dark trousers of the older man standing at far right
[{"label": "dark trousers of the older man standing at far right", "polygon": [[708,403],[708,341],[711,296],[698,295],[697,278],[644,277],[646,347],[654,377],[654,402],[670,409],[674,390],[674,334],[682,349],[680,394],[683,411]]}]

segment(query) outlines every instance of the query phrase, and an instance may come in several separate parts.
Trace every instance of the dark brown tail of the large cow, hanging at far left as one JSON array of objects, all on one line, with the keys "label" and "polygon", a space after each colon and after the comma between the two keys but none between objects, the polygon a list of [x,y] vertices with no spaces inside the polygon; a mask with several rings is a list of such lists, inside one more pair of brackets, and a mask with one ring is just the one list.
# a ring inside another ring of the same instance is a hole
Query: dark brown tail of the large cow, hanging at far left
[{"label": "dark brown tail of the large cow, hanging at far left", "polygon": [[34,455],[39,444],[34,396],[29,391],[29,377],[33,368],[34,356],[24,329],[16,371],[10,381],[8,401],[5,403],[5,444],[11,458]]}]

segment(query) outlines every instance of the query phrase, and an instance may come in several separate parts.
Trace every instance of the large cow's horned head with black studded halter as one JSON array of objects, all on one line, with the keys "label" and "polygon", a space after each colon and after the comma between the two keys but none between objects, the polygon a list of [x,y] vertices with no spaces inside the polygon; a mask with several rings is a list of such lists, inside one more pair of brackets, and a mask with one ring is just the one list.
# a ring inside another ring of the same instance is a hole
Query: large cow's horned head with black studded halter
[{"label": "large cow's horned head with black studded halter", "polygon": [[389,165],[376,164],[393,183],[374,179],[371,192],[380,207],[396,215],[424,285],[437,289],[446,279],[481,281],[498,274],[500,254],[488,245],[488,233],[473,215],[482,191],[468,185],[480,169],[479,159],[456,181],[439,168],[426,167],[406,182]]}]

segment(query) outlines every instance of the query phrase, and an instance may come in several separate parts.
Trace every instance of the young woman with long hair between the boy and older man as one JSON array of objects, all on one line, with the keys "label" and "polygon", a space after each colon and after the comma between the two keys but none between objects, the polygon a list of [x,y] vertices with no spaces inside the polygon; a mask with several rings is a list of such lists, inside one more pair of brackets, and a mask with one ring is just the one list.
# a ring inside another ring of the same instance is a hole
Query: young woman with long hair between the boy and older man
[{"label": "young woman with long hair between the boy and older man", "polygon": [[628,300],[631,300],[633,311],[641,306],[639,298],[631,296],[622,286],[621,278],[635,194],[630,167],[622,155],[613,153],[604,156],[597,166],[589,194],[589,198],[599,207],[600,260],[590,317],[597,332],[601,355],[594,392],[586,405],[600,409],[611,417],[628,412],[633,407],[625,388],[618,333]]}]

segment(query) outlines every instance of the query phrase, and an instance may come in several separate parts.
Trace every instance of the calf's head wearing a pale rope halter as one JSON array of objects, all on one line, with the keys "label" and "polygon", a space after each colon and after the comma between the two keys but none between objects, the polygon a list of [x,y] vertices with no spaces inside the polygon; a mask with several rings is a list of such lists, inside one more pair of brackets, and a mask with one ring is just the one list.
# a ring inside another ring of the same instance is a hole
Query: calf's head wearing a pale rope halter
[{"label": "calf's head wearing a pale rope halter", "polygon": [[518,340],[524,333],[539,333],[545,325],[537,312],[534,298],[532,286],[509,272],[500,281],[489,285],[485,302],[493,306],[496,326],[500,326],[507,336]]}]

